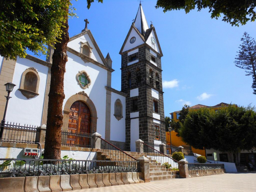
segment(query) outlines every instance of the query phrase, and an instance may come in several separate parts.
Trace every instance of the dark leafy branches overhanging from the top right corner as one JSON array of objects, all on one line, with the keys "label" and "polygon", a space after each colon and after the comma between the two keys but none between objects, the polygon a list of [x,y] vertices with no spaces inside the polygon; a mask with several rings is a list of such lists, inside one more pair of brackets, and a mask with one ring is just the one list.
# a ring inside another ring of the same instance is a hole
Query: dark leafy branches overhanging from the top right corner
[{"label": "dark leafy branches overhanging from the top right corner", "polygon": [[232,26],[238,26],[239,23],[245,25],[249,20],[254,21],[256,17],[255,6],[254,0],[157,0],[156,3],[156,8],[162,7],[164,12],[183,9],[189,13],[194,9],[201,11],[208,8],[212,19],[218,19],[223,14],[222,21],[228,22]]}]

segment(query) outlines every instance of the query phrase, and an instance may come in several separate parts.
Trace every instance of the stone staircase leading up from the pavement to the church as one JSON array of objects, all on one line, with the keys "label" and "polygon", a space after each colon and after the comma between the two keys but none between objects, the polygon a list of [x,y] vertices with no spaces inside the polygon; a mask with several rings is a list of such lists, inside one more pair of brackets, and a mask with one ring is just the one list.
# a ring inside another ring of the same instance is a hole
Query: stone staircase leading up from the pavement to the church
[{"label": "stone staircase leading up from the pavement to the church", "polygon": [[[126,154],[131,155],[135,159],[140,158],[141,156],[145,156],[150,160],[149,163],[149,177],[150,181],[158,181],[164,179],[174,179],[179,178],[179,173],[177,171],[173,171],[171,169],[166,169],[161,163],[157,163],[156,160],[151,159],[147,156],[147,153],[138,153],[125,151]],[[98,151],[97,153],[98,160],[106,160],[106,161],[134,161],[131,157],[124,157],[120,154],[120,151],[115,150],[104,150]]]}]

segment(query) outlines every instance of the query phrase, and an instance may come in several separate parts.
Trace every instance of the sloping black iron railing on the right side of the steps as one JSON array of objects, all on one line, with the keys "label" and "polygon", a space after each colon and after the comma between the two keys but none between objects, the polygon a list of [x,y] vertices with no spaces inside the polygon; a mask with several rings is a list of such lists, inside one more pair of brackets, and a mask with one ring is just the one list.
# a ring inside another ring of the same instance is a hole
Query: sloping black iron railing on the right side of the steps
[{"label": "sloping black iron railing on the right side of the steps", "polygon": [[[157,145],[151,144],[151,146],[156,147]],[[155,160],[157,163],[161,163],[163,166],[171,165],[170,169],[172,169],[173,171],[179,170],[178,161],[176,161],[175,159],[173,159],[168,155],[161,153],[159,150],[151,146],[149,146],[146,143],[143,143],[143,149],[144,149],[144,152],[147,153],[147,157],[150,157],[151,159]]]}]

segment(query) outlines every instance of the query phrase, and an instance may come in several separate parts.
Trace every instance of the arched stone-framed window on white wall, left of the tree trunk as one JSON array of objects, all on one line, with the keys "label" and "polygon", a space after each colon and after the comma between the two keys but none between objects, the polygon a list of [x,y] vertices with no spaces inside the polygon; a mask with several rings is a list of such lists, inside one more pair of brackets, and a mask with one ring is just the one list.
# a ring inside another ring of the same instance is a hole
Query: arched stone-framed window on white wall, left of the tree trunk
[{"label": "arched stone-framed window on white wall, left of the tree trunk", "polygon": [[40,77],[35,68],[26,69],[21,77],[19,91],[27,98],[34,98],[38,95]]}]

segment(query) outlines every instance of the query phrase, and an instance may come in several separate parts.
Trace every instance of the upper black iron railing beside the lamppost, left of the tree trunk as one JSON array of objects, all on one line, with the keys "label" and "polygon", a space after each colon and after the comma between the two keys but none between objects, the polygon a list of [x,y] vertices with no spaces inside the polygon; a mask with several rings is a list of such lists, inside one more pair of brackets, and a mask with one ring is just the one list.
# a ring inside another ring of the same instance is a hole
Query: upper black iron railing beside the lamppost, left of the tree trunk
[{"label": "upper black iron railing beside the lamppost, left of the tree trunk", "polygon": [[34,125],[20,125],[18,123],[5,123],[1,141],[35,143],[37,127]]}]

